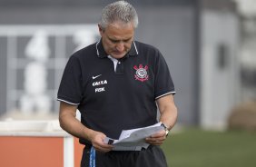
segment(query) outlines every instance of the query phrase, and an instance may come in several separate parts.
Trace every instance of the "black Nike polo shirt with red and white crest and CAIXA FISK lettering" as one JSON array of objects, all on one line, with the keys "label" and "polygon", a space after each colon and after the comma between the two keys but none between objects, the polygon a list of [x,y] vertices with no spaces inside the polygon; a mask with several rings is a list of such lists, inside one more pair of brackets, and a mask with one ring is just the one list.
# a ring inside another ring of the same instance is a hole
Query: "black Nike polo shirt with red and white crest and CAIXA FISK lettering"
[{"label": "black Nike polo shirt with red and white crest and CAIXA FISK lettering", "polygon": [[157,123],[155,100],[170,93],[172,77],[158,49],[134,41],[116,60],[100,41],[70,57],[57,99],[77,105],[88,128],[118,139],[123,129]]}]

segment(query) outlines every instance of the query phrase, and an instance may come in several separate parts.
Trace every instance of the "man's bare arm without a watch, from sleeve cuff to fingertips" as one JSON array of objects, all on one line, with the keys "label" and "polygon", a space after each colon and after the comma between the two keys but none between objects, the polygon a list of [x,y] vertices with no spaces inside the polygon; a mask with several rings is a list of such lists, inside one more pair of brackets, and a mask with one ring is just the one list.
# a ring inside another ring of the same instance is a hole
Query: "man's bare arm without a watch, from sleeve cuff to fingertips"
[{"label": "man's bare arm without a watch, from sleeve cuff to fingertips", "polygon": [[100,152],[109,152],[113,146],[103,143],[105,134],[93,131],[80,123],[75,118],[77,106],[69,103],[60,103],[59,122],[60,126],[66,131],[78,138],[84,138],[92,142],[95,150]]}]

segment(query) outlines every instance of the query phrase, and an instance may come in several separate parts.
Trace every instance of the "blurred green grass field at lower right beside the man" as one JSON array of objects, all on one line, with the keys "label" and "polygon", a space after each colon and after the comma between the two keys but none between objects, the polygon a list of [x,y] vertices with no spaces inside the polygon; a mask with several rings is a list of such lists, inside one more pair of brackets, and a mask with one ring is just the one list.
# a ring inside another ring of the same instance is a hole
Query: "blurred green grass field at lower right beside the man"
[{"label": "blurred green grass field at lower right beside the man", "polygon": [[162,145],[169,167],[255,167],[256,133],[183,129]]}]

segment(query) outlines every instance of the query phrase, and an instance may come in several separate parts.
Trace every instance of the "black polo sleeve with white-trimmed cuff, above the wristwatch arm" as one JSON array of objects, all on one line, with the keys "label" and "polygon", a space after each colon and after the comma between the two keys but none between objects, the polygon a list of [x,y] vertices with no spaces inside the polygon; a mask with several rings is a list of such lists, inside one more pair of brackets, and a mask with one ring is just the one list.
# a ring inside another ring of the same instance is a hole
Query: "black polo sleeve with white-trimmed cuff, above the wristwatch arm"
[{"label": "black polo sleeve with white-trimmed cuff, above the wristwatch arm", "polygon": [[167,94],[175,94],[172,76],[170,74],[168,65],[166,64],[162,54],[158,52],[155,64],[155,87],[154,97],[158,99]]}]

